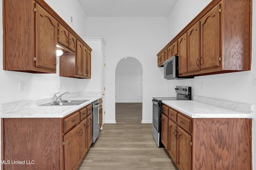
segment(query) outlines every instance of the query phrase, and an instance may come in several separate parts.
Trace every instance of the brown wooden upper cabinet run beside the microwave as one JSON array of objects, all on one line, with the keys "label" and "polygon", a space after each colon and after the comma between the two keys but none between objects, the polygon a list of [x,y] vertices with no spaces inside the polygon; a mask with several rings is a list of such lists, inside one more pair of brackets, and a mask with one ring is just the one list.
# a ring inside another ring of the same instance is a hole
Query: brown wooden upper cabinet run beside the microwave
[{"label": "brown wooden upper cabinet run beside the microwave", "polygon": [[[252,0],[212,0],[158,55],[168,49],[169,57],[178,40],[180,77],[248,71],[251,23]],[[182,42],[185,34],[187,47]]]}]

